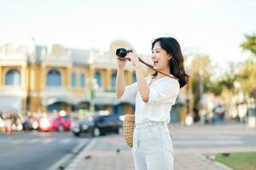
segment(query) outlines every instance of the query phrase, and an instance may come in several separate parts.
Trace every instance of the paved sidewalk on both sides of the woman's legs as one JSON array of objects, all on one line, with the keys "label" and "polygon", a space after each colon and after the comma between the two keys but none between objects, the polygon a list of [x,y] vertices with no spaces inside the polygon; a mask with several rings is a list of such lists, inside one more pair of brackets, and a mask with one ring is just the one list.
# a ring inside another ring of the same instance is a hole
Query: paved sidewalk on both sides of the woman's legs
[{"label": "paved sidewalk on both sides of the woman's legs", "polygon": [[[134,169],[131,149],[121,135],[92,139],[67,170],[131,170]],[[175,170],[230,170],[205,156],[175,151]]]}]

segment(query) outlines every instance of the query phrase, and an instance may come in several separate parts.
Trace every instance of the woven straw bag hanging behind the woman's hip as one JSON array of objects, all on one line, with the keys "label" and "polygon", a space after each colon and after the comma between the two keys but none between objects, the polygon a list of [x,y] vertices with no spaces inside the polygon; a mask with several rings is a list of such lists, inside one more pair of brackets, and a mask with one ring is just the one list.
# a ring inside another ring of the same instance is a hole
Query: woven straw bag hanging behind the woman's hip
[{"label": "woven straw bag hanging behind the woman's hip", "polygon": [[123,123],[123,135],[125,138],[126,144],[132,147],[133,144],[133,130],[135,124],[135,116],[134,115],[125,115],[125,120]]}]

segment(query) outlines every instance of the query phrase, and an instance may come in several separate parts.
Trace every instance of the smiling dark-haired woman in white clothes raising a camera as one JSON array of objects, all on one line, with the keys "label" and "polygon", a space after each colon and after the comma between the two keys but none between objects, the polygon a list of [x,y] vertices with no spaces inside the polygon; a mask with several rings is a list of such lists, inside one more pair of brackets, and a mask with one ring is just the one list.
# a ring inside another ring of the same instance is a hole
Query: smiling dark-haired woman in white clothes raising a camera
[{"label": "smiling dark-haired woman in white clothes raising a camera", "polygon": [[142,65],[134,49],[125,56],[135,67],[137,82],[125,87],[126,60],[117,58],[116,98],[136,101],[132,155],[137,170],[173,169],[173,149],[167,123],[179,89],[188,82],[183,55],[176,39],[160,37],[152,42],[155,72],[144,77]]}]

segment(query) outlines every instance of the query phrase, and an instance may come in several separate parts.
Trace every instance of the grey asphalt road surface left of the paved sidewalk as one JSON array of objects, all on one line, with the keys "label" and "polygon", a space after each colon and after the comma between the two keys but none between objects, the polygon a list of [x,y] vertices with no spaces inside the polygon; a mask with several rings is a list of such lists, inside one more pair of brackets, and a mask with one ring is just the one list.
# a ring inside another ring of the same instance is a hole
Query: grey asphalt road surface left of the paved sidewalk
[{"label": "grey asphalt road surface left of the paved sidewalk", "polygon": [[74,138],[72,133],[0,133],[0,169],[45,170],[63,156],[76,156],[87,142],[87,138]]}]

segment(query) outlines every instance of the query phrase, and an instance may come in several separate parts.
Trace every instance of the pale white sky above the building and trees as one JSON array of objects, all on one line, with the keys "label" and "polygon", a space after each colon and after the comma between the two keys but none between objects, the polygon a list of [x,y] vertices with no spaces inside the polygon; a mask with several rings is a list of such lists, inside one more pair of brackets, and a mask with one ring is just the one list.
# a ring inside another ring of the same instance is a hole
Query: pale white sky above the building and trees
[{"label": "pale white sky above the building and trees", "polygon": [[254,0],[0,0],[0,45],[60,43],[108,50],[115,40],[139,54],[156,37],[175,37],[183,54],[207,54],[214,65],[241,62],[245,34],[256,33]]}]

